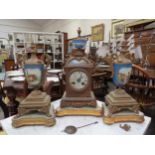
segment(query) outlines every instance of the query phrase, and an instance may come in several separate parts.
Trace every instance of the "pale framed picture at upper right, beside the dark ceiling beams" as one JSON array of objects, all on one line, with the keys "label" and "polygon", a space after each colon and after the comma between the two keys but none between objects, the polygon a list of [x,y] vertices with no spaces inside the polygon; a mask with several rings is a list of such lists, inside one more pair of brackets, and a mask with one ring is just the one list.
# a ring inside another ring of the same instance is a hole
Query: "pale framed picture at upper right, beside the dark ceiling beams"
[{"label": "pale framed picture at upper right, beside the dark ceiling beams", "polygon": [[125,25],[124,25],[125,20],[118,20],[114,19],[112,20],[112,25],[111,25],[111,37],[121,37],[124,32],[125,32]]}]

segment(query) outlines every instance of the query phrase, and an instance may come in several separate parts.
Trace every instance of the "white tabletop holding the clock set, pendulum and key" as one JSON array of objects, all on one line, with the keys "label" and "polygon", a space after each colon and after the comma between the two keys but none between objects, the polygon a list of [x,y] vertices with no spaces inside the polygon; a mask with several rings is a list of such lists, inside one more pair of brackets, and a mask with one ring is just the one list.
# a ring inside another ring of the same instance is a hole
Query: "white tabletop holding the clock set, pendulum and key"
[{"label": "white tabletop holding the clock set, pendulum and key", "polygon": [[[104,104],[101,101],[97,101],[98,105]],[[52,102],[54,108],[59,107],[60,100]],[[131,126],[131,129],[127,132],[119,127],[120,124],[115,123],[113,125],[106,125],[103,123],[102,117],[93,116],[65,116],[56,117],[56,125],[52,127],[46,126],[25,126],[20,128],[13,128],[12,117],[3,119],[0,121],[3,130],[9,135],[65,135],[63,132],[64,128],[68,125],[82,126],[92,122],[98,121],[98,124],[90,125],[78,129],[76,135],[142,135],[147,130],[151,118],[145,116],[143,123],[127,123]]]}]

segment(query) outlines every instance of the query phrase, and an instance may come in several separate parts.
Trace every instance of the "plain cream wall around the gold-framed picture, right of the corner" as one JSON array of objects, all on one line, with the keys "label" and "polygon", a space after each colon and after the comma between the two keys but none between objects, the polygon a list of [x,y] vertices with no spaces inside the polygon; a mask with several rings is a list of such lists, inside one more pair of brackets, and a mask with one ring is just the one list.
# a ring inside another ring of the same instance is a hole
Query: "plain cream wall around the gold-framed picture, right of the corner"
[{"label": "plain cream wall around the gold-framed picture, right of the corner", "polygon": [[68,38],[77,37],[77,29],[81,27],[82,34],[91,34],[91,26],[102,24],[105,25],[104,30],[104,41],[109,41],[109,31],[111,29],[111,19],[60,19],[49,21],[43,26],[42,31],[44,32],[56,32],[62,31],[68,33]]}]

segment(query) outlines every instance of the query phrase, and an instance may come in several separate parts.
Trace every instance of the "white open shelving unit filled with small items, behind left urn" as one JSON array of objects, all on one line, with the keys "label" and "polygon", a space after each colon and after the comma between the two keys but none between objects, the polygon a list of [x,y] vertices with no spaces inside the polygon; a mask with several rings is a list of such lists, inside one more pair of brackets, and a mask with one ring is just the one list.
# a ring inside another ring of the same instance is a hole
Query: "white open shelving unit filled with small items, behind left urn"
[{"label": "white open shelving unit filled with small items, behind left urn", "polygon": [[13,32],[14,58],[17,62],[18,55],[28,59],[31,53],[50,58],[51,68],[62,68],[64,62],[64,33],[43,32]]}]

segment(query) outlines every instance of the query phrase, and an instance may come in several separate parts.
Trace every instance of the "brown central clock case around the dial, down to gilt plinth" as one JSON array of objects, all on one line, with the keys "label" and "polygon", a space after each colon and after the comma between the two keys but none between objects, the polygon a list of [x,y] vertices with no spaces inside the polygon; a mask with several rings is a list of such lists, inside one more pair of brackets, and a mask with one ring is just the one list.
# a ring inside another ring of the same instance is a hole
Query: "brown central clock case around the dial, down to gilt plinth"
[{"label": "brown central clock case around the dial, down to gilt plinth", "polygon": [[[75,62],[75,64],[72,62]],[[64,66],[66,91],[61,99],[60,108],[57,109],[56,116],[103,115],[103,109],[97,107],[96,98],[92,92],[91,75],[93,69],[93,63],[84,55],[83,50],[76,49],[73,51],[73,55],[70,56]],[[83,90],[75,90],[69,83],[69,77],[75,71],[84,72],[88,77],[88,84]]]}]

